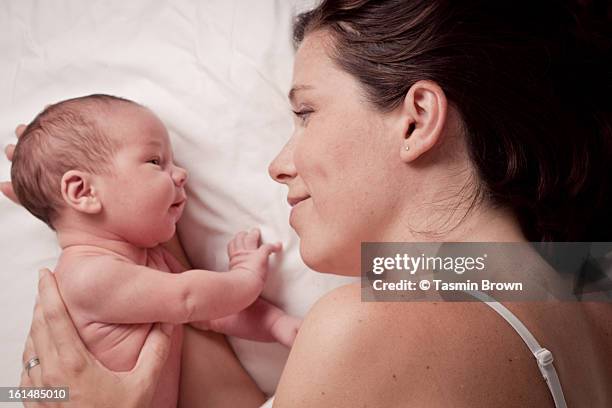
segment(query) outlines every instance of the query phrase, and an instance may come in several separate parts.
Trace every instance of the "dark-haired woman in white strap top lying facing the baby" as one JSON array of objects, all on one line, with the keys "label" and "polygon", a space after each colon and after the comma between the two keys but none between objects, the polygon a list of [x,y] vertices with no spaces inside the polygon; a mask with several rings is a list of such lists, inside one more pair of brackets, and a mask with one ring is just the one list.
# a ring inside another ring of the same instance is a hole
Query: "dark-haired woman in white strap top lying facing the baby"
[{"label": "dark-haired woman in white strap top lying facing the baby", "polygon": [[[609,60],[558,5],[502,3],[338,0],[300,17],[295,132],[270,174],[289,188],[311,268],[359,275],[367,241],[610,240]],[[162,332],[134,373],[110,373],[75,337],[52,276],[40,282],[24,362],[41,364],[22,384],[70,384],[77,406],[146,406]],[[486,305],[364,303],[346,286],[309,312],[274,406],[610,406],[611,306],[507,305],[554,354],[559,399]],[[230,354],[192,335],[186,372],[209,378],[185,380],[185,406],[261,402]]]}]

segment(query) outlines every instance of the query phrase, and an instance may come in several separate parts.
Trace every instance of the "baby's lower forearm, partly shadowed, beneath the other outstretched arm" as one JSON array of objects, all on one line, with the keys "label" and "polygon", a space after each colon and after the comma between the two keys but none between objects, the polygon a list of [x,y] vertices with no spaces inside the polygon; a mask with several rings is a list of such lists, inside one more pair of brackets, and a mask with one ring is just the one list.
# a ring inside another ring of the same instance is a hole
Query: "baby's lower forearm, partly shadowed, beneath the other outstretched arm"
[{"label": "baby's lower forearm, partly shadowed, beneath the other outstretched arm", "polygon": [[277,341],[291,347],[301,323],[301,319],[288,315],[260,297],[240,313],[211,321],[194,322],[191,326],[249,340]]}]

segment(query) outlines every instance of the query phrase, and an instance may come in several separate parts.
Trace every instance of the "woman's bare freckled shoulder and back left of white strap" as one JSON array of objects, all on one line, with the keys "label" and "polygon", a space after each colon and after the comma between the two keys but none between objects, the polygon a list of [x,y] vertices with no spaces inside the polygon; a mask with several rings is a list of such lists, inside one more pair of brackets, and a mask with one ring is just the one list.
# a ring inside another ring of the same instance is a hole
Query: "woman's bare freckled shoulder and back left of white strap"
[{"label": "woman's bare freckled shoulder and back left of white strap", "polygon": [[486,305],[362,302],[357,284],[313,306],[275,406],[545,406],[541,380],[521,338]]}]

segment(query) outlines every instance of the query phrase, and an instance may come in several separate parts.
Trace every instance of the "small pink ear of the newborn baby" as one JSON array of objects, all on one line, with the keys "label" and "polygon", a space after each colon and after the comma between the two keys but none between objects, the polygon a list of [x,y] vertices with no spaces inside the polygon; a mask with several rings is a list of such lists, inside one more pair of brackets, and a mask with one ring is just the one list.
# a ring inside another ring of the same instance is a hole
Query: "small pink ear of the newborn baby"
[{"label": "small pink ear of the newborn baby", "polygon": [[102,202],[91,183],[90,173],[69,170],[62,176],[61,189],[64,202],[71,208],[86,214],[102,211]]}]

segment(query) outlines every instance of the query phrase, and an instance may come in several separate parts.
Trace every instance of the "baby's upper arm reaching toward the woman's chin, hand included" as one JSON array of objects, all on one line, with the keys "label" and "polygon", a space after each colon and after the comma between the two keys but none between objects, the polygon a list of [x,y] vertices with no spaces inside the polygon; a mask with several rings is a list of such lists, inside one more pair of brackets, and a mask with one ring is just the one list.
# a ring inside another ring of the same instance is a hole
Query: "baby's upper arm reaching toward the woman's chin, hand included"
[{"label": "baby's upper arm reaching toward the woman's chin, hand included", "polygon": [[280,245],[245,246],[239,234],[225,273],[192,269],[164,273],[104,256],[88,257],[62,279],[62,293],[89,319],[105,323],[187,323],[244,309],[263,289],[268,257]]}]

